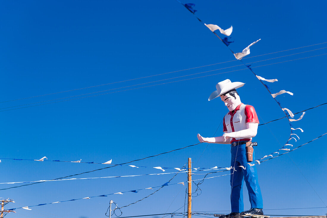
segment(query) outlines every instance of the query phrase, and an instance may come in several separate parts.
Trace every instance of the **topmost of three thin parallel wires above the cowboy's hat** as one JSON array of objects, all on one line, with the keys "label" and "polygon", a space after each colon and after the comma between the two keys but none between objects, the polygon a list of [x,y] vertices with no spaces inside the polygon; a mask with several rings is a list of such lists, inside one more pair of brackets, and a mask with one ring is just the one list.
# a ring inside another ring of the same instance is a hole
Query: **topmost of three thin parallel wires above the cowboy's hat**
[{"label": "topmost of three thin parallel wires above the cowboy's hat", "polygon": [[[290,50],[300,49],[300,48],[305,48],[305,47],[310,47],[310,46],[314,46],[314,45],[320,45],[320,44],[324,44],[324,43],[327,43],[327,42],[322,42],[322,43],[317,43],[317,44],[312,44],[312,45],[306,45],[306,46],[302,46],[302,47],[298,47],[298,48],[291,48],[291,49],[287,49],[287,50],[283,50],[283,51],[277,51],[277,52],[267,53],[267,54],[263,54],[263,55],[257,55],[257,56],[253,56],[253,57],[243,58],[243,59],[255,58],[255,57],[259,57],[259,56],[270,55],[270,54],[275,54],[275,53],[279,53],[279,52],[290,51]],[[171,73],[176,73],[176,72],[181,72],[181,71],[186,71],[186,70],[192,70],[192,69],[201,68],[201,67],[212,66],[212,65],[216,65],[216,64],[222,64],[222,63],[232,62],[232,61],[236,61],[236,60],[224,61],[224,62],[220,62],[220,63],[209,64],[209,65],[204,65],[204,66],[199,66],[199,67],[193,67],[193,68],[188,68],[188,69],[183,69],[183,70],[177,70],[177,71],[172,71],[172,72],[163,73],[163,74],[144,76],[144,77],[139,77],[139,78],[134,78],[134,79],[128,79],[128,80],[123,80],[123,81],[106,83],[106,84],[101,84],[101,85],[96,85],[96,86],[89,86],[89,87],[84,87],[84,88],[79,88],[79,89],[72,89],[72,90],[67,90],[67,91],[62,91],[62,92],[54,92],[54,93],[49,93],[49,94],[36,95],[36,96],[32,96],[32,97],[26,97],[26,98],[14,99],[14,100],[2,101],[0,103],[11,102],[11,101],[18,101],[18,100],[29,99],[29,98],[36,98],[36,97],[41,97],[41,96],[46,96],[46,95],[59,94],[59,93],[63,93],[63,92],[72,92],[72,91],[77,91],[77,90],[82,90],[82,89],[88,89],[88,88],[94,88],[94,87],[105,86],[105,85],[111,85],[111,84],[115,84],[115,83],[127,82],[127,81],[132,81],[132,80],[137,80],[137,79],[143,79],[143,78],[148,78],[148,77],[153,77],[153,76],[158,76],[158,75],[164,75],[164,74],[171,74]]]}]

